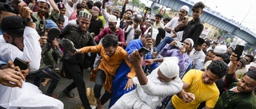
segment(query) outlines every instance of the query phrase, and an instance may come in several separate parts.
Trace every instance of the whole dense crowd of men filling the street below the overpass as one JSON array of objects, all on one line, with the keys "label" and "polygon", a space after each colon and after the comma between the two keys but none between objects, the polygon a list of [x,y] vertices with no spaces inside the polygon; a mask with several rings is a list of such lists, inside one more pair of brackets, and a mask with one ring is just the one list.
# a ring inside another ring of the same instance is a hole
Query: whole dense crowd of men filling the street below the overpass
[{"label": "whole dense crowd of men filling the street below the overpass", "polygon": [[14,1],[0,5],[0,108],[65,108],[54,94],[62,75],[74,81],[63,93],[74,98],[77,88],[90,109],[87,69],[98,109],[108,101],[111,109],[256,109],[254,56],[200,37],[202,2],[163,19],[126,10],[128,0],[122,10],[106,0]]}]

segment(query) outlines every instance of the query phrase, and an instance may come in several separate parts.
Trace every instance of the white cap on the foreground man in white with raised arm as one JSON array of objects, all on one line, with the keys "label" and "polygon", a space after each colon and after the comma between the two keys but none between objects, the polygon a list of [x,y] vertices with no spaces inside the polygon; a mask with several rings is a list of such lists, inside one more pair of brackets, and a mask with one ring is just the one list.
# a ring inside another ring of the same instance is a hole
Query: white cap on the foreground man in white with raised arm
[{"label": "white cap on the foreground man in white with raised arm", "polygon": [[173,78],[179,75],[178,57],[164,57],[162,64],[159,65],[159,70],[167,78]]}]

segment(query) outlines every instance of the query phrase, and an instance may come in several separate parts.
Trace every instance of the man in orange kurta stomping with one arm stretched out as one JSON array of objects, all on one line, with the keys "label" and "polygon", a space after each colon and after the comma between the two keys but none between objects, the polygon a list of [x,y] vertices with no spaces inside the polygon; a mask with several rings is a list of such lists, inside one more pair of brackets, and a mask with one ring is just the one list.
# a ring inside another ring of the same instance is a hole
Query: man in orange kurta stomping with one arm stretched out
[{"label": "man in orange kurta stomping with one arm stretched out", "polygon": [[[122,64],[124,60],[126,64],[130,67],[130,72],[126,75],[128,76],[128,81],[126,83],[125,89],[133,87],[132,78],[135,76],[134,68],[127,60],[128,54],[122,47],[118,46],[118,37],[114,34],[108,34],[102,39],[102,45],[87,46],[82,49],[77,49],[76,53],[101,53],[102,60],[98,65],[98,68],[93,71],[90,76],[90,80],[95,80],[94,85],[94,95],[97,99],[97,108],[102,108],[102,104],[106,103],[111,97],[111,86],[117,69]],[[94,76],[96,75],[96,79]],[[100,93],[102,85],[104,84],[105,93],[100,98]]]}]

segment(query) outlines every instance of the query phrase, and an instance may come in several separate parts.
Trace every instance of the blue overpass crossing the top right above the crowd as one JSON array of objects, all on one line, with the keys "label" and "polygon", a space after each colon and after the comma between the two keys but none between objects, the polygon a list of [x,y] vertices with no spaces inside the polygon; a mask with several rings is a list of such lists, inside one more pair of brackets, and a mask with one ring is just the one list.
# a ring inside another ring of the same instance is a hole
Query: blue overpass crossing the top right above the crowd
[{"label": "blue overpass crossing the top right above the crowd", "polygon": [[[190,9],[192,9],[194,4],[196,3],[190,0],[153,0],[153,2],[177,11],[180,10],[180,8],[184,5],[189,6]],[[256,34],[250,31],[250,29],[247,29],[238,22],[226,18],[222,14],[219,14],[214,10],[210,10],[209,8],[205,8],[203,11],[204,13],[201,16],[202,21],[213,25],[218,29],[223,29],[226,31],[226,33],[231,33],[234,36],[241,38],[242,40],[247,42],[247,48],[253,47],[253,50],[256,49]],[[191,10],[189,12],[189,15],[192,16]]]}]

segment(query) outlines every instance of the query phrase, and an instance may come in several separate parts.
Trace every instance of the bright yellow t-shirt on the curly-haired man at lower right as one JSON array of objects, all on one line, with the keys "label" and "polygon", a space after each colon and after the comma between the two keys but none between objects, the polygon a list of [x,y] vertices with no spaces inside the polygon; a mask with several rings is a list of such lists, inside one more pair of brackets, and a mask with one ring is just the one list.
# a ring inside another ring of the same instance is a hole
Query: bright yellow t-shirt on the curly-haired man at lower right
[{"label": "bright yellow t-shirt on the curly-haired man at lower right", "polygon": [[190,87],[186,89],[186,92],[191,92],[195,95],[195,99],[191,103],[185,103],[178,95],[174,95],[171,102],[176,109],[196,109],[200,103],[206,101],[206,106],[214,108],[217,103],[219,91],[216,84],[203,84],[202,74],[204,72],[200,70],[190,70],[182,78],[182,81],[189,84]]}]

